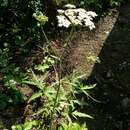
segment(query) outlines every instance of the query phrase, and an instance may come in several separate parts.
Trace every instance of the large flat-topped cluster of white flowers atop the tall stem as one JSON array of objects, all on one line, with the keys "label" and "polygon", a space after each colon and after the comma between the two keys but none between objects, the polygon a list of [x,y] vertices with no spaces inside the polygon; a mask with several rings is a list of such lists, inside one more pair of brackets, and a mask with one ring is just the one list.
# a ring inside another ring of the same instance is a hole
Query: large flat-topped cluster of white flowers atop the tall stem
[{"label": "large flat-topped cluster of white flowers atop the tall stem", "polygon": [[76,8],[74,5],[67,4],[65,5],[67,9],[59,9],[57,19],[59,27],[68,28],[71,25],[77,26],[86,26],[90,30],[95,28],[93,23],[93,18],[97,16],[95,12],[86,11],[82,8]]}]

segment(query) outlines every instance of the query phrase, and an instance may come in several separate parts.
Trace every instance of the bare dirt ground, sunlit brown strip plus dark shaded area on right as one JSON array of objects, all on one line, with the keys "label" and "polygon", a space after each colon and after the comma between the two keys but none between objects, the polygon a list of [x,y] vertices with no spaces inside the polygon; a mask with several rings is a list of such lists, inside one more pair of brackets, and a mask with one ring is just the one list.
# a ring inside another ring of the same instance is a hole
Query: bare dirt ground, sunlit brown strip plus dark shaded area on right
[{"label": "bare dirt ground, sunlit brown strip plus dark shaded area on right", "polygon": [[[89,130],[130,130],[130,2],[101,19],[95,32],[78,32],[65,57],[69,71],[97,84],[84,111],[94,116]],[[66,69],[67,70],[67,69]]]}]

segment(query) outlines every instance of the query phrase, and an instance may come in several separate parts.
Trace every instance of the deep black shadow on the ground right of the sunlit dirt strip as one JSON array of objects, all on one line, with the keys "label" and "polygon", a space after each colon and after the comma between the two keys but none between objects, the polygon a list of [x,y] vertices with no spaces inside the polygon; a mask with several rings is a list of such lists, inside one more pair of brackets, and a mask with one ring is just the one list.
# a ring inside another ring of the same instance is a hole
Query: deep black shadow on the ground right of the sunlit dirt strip
[{"label": "deep black shadow on the ground right of the sunlit dirt strip", "polygon": [[87,80],[97,84],[94,96],[104,102],[92,103],[90,130],[130,130],[130,2],[119,11],[98,56],[101,63]]}]

